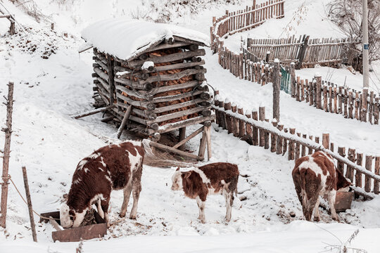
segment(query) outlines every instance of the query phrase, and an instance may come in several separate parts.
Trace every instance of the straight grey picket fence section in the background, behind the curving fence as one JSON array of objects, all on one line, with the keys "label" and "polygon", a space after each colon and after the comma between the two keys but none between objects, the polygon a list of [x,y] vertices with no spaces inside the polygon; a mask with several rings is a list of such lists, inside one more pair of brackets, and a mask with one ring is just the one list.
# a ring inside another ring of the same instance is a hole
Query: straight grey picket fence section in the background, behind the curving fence
[{"label": "straight grey picket fence section in the background, behind the curving fence", "polygon": [[343,60],[343,49],[350,41],[343,39],[309,39],[303,35],[289,39],[247,39],[247,49],[260,59],[272,63],[275,58],[282,65],[297,63],[297,68],[316,64],[335,67]]}]

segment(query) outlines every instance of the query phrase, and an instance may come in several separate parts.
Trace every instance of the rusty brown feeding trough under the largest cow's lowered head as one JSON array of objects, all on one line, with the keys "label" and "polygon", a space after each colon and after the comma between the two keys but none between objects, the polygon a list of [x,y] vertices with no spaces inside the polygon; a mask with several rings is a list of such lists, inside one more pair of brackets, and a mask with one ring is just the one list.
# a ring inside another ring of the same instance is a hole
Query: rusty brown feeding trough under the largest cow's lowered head
[{"label": "rusty brown feeding trough under the largest cow's lowered head", "polygon": [[101,238],[107,233],[107,223],[104,221],[104,219],[99,216],[99,214],[94,210],[94,217],[96,220],[96,224],[94,225],[88,225],[88,226],[80,226],[77,228],[66,228],[62,229],[60,226],[59,218],[59,211],[57,212],[49,212],[45,214],[41,214],[43,217],[53,218],[57,220],[49,220],[41,218],[39,219],[39,222],[51,222],[54,228],[56,228],[56,231],[53,231],[51,233],[51,237],[53,238],[53,241],[60,241],[60,242],[79,242],[82,240],[89,240],[94,238]]}]

